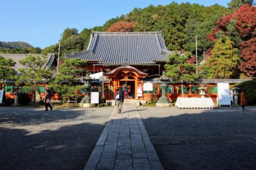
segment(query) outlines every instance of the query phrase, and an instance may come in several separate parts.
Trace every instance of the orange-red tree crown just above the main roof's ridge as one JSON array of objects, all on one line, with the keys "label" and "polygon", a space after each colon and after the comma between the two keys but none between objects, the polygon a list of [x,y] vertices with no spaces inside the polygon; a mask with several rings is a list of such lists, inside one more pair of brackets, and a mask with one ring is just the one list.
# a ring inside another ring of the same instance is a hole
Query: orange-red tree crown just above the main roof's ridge
[{"label": "orange-red tree crown just above the main roof's ridge", "polygon": [[120,21],[112,24],[107,32],[133,32],[136,22]]}]

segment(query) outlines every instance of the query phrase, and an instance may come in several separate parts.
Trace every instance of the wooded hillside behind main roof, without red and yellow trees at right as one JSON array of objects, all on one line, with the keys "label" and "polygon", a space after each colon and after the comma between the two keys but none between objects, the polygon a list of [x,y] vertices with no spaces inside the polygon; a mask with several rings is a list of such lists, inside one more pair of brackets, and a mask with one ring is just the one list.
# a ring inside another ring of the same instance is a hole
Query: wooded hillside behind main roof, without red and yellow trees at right
[{"label": "wooded hillside behind main roof, without red and yellow trees at right", "polygon": [[[92,31],[162,31],[168,50],[188,50],[195,52],[195,34],[198,35],[198,53],[207,50],[211,41],[207,34],[214,23],[230,12],[218,4],[202,6],[189,3],[171,3],[166,6],[148,6],[134,8],[130,13],[111,18],[104,25],[84,28],[80,33],[76,28],[67,28],[61,39],[61,56],[65,53],[86,50]],[[44,49],[44,52],[57,52],[58,43]]]}]

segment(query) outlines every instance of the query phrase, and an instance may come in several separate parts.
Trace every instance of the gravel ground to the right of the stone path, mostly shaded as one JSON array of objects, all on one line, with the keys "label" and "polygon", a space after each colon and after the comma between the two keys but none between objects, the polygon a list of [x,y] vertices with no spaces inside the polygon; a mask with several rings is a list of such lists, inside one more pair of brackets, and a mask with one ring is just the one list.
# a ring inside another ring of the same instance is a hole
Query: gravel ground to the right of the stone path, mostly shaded
[{"label": "gravel ground to the right of the stone path, mostly shaded", "polygon": [[256,169],[256,107],[138,107],[164,169]]}]

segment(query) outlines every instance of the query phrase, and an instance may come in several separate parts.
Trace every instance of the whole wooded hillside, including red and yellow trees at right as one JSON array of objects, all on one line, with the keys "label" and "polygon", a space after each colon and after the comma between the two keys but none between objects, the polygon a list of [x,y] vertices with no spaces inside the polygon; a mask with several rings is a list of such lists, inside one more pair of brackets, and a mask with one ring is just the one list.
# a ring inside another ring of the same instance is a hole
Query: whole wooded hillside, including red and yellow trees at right
[{"label": "whole wooded hillside, including red and yellow trees at right", "polygon": [[[61,58],[86,50],[92,31],[162,31],[168,50],[185,50],[193,55],[197,36],[198,60],[203,60],[204,53],[208,60],[200,66],[202,77],[255,77],[256,7],[251,0],[233,0],[228,6],[174,2],[166,6],[150,5],[134,8],[92,29],[78,32],[76,28],[67,28],[61,38]],[[43,52],[58,53],[58,43]]]}]

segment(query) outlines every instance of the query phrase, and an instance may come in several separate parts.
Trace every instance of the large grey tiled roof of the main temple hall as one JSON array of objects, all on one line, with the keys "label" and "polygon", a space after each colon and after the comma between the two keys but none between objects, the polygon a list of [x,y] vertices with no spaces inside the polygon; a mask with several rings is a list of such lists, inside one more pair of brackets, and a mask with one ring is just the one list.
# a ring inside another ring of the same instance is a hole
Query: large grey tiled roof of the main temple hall
[{"label": "large grey tiled roof of the main temple hall", "polygon": [[168,51],[161,32],[93,32],[84,52],[66,55],[100,64],[165,62]]}]

